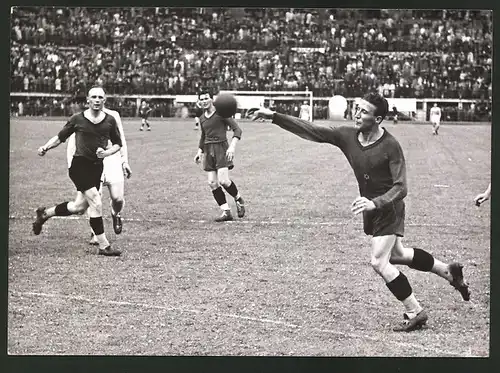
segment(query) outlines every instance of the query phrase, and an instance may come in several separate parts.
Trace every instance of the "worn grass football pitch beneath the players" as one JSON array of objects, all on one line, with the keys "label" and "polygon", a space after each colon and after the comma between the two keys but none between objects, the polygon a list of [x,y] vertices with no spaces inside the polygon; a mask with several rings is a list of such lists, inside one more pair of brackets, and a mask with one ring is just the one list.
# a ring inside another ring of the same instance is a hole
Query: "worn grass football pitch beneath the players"
[{"label": "worn grass football pitch beneath the players", "polygon": [[[489,203],[472,199],[490,176],[490,126],[386,128],[405,151],[407,245],[465,265],[472,298],[402,268],[429,312],[428,328],[398,334],[403,308],[370,267],[353,172],[335,147],[270,123],[242,121],[232,178],[247,216],[219,210],[193,162],[191,121],[124,127],[133,176],[116,236],[95,255],[82,217],[31,232],[34,209],[74,197],[65,146],[36,150],[62,120],[10,123],[9,354],[488,356]],[[234,203],[230,201],[233,206]]]}]

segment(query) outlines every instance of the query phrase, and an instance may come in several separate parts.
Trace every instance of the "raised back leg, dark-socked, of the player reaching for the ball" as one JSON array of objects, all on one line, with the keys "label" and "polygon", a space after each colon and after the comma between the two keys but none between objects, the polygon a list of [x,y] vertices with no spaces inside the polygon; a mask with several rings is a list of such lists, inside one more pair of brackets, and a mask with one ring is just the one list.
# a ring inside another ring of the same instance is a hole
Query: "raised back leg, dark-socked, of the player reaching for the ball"
[{"label": "raised back leg, dark-socked, of the player reaching for the ball", "polygon": [[418,271],[435,273],[457,289],[464,300],[470,299],[469,286],[464,281],[463,266],[460,263],[446,264],[425,250],[404,247],[401,237],[397,237],[396,239],[391,252],[390,262],[392,264],[407,265]]}]

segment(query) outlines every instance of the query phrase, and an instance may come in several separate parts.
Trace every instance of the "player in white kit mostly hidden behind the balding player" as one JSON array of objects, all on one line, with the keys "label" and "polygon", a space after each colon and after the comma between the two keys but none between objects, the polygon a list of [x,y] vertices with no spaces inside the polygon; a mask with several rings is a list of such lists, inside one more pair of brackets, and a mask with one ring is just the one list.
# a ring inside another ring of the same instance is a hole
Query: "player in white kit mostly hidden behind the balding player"
[{"label": "player in white kit mostly hidden behind the balding player", "polygon": [[[111,199],[111,218],[113,219],[113,230],[116,234],[120,234],[123,229],[123,221],[120,213],[125,203],[124,175],[127,176],[127,179],[130,178],[130,176],[132,176],[132,170],[130,169],[130,166],[128,164],[127,142],[125,140],[125,132],[123,131],[123,124],[120,118],[120,114],[117,111],[107,108],[104,108],[103,111],[115,118],[122,140],[122,147],[120,148],[120,151],[113,154],[112,156],[106,157],[103,160],[104,170],[101,176],[101,187],[99,188],[102,195],[102,187],[108,187],[109,197]],[[66,152],[68,168],[71,167],[75,149],[75,135],[73,134],[68,138],[68,147]],[[94,232],[92,232],[90,243],[97,243]]]}]

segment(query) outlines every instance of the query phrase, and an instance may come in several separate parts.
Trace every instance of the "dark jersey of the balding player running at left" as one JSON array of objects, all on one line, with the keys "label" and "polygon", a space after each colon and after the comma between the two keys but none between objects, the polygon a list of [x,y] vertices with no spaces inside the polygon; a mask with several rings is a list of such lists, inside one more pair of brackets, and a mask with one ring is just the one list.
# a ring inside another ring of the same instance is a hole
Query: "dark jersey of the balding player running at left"
[{"label": "dark jersey of the balding player running at left", "polygon": [[75,134],[76,150],[74,157],[85,157],[92,161],[97,160],[97,148],[106,149],[108,141],[122,146],[120,132],[113,116],[106,114],[99,123],[92,123],[83,112],[69,118],[66,125],[57,135],[61,142],[65,142],[71,134]]}]

